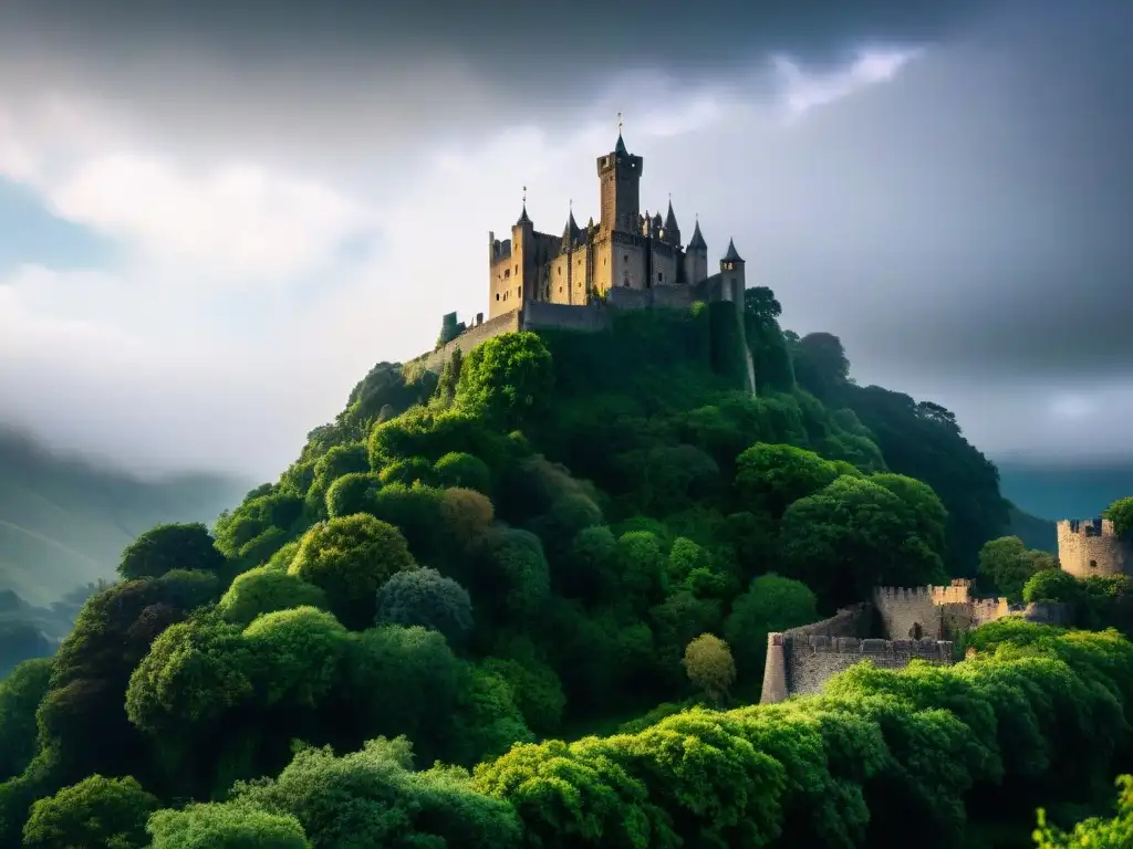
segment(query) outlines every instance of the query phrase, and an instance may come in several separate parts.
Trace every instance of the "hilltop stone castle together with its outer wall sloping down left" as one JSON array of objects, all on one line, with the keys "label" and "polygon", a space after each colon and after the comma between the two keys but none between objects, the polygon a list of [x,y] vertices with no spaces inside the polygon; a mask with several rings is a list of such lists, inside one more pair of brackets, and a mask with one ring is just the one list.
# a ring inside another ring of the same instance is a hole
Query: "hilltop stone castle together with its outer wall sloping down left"
[{"label": "hilltop stone castle together with its outer wall sloping down left", "polygon": [[[597,158],[600,220],[581,228],[571,208],[560,235],[535,229],[525,189],[511,238],[488,232],[487,319],[480,312],[475,321],[458,324],[449,314],[444,325],[451,335],[415,362],[440,371],[457,349],[467,354],[514,331],[600,331],[608,326],[610,309],[689,309],[698,301],[742,309],[746,264],[735,242],[729,241],[719,271],[709,274],[699,221],[682,245],[672,200],[664,217],[641,211],[642,169],[644,160],[629,152],[619,127],[614,149]],[[742,336],[742,321],[739,331]],[[750,374],[748,383],[753,391]]]}]

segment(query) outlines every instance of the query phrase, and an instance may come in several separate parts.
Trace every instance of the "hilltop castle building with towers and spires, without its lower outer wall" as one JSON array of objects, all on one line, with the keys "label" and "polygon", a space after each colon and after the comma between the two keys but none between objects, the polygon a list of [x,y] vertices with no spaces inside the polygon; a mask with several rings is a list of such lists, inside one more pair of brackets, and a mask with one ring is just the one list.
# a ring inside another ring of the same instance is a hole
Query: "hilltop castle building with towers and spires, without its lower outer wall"
[{"label": "hilltop castle building with towers and spires, without its lower outer wall", "polygon": [[[668,201],[668,212],[641,213],[644,160],[631,154],[617,134],[611,153],[597,160],[600,221],[586,228],[571,209],[561,235],[540,233],[523,211],[503,241],[488,233],[488,317],[530,302],[586,306],[611,290],[661,291],[664,303],[685,300],[743,302],[744,261],[734,241],[708,274],[708,246],[700,222],[687,246]],[[651,299],[647,299],[651,300]]]}]

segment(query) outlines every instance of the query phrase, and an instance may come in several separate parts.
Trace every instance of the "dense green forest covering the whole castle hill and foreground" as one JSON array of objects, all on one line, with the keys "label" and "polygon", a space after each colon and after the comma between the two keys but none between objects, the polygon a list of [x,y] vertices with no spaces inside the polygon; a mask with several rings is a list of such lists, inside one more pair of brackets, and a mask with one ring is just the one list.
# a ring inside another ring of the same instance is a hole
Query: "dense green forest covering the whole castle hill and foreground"
[{"label": "dense green forest covering the whole castle hill and foreground", "polygon": [[[778,315],[755,289],[742,325],[726,303],[614,314],[441,375],[376,366],[278,481],[214,529],[143,533],[58,652],[0,683],[0,844],[1008,847],[1072,839],[1048,820],[1123,827],[1125,808],[1084,817],[1127,763],[1133,645],[1100,631],[1125,583],[1004,537],[996,469],[952,413],[858,386],[835,336]],[[954,666],[859,664],[753,706],[769,632],[956,576],[1071,603],[1083,629],[1005,619]]]}]

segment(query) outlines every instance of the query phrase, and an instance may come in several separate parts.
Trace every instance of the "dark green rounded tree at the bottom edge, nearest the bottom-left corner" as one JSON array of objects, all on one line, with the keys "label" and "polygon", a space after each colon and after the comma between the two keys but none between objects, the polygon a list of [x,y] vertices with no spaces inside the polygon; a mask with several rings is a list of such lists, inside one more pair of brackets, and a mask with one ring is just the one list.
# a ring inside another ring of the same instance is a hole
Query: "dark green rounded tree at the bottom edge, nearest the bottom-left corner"
[{"label": "dark green rounded tree at the bottom edge, nearest the bottom-left corner", "polygon": [[91,775],[40,799],[24,825],[24,846],[35,849],[142,849],[146,820],[159,807],[131,777]]}]

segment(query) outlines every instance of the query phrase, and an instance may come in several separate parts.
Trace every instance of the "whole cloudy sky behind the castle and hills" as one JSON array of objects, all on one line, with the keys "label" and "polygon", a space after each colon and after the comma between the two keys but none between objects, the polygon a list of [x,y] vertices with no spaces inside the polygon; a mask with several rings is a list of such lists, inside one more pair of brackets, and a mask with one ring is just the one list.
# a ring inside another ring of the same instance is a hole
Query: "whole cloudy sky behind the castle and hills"
[{"label": "whole cloudy sky behind the castle and hills", "polygon": [[523,186],[597,214],[623,112],[642,205],[859,381],[1133,453],[1127,0],[172,6],[0,0],[0,420],[273,477],[485,309]]}]

